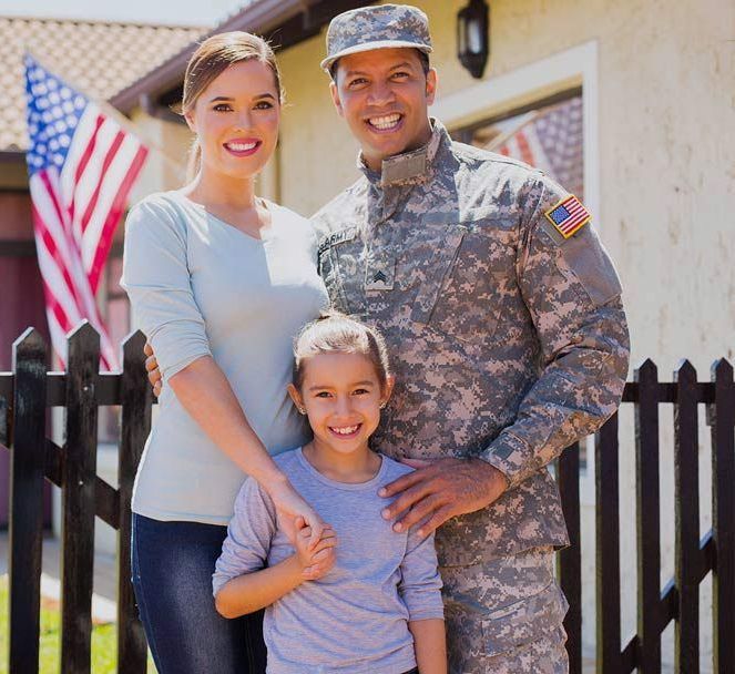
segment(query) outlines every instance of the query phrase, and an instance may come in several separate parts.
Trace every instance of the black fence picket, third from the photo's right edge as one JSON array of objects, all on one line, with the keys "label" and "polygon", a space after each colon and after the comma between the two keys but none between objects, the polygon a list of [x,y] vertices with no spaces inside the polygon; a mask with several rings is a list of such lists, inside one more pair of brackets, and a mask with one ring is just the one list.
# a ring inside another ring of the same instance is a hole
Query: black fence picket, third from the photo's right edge
[{"label": "black fence picket, third from the photo's right edge", "polygon": [[635,370],[635,504],[637,541],[637,665],[661,672],[661,515],[659,497],[659,370],[646,360]]}]

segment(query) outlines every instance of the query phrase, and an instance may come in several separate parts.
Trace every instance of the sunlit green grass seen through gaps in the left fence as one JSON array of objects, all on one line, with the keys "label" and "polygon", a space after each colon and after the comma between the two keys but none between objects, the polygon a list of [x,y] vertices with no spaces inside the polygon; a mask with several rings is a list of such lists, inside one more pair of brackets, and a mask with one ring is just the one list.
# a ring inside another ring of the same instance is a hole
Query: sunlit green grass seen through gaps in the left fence
[{"label": "sunlit green grass seen through gaps in the left fence", "polygon": [[[61,625],[59,611],[41,607],[40,674],[58,674]],[[114,623],[92,629],[92,674],[115,674],[118,634]],[[149,653],[149,674],[155,666]],[[8,674],[8,576],[0,576],[0,674]]]}]

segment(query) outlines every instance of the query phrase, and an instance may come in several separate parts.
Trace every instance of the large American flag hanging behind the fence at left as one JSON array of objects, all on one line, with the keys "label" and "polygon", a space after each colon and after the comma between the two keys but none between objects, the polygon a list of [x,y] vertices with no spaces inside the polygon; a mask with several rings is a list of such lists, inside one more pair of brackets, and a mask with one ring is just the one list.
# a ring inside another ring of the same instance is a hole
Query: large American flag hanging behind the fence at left
[{"label": "large American flag hanging behind the fence at left", "polygon": [[101,360],[118,365],[95,293],[127,194],[147,149],[86,96],[25,55],[33,229],[53,348],[86,318],[100,333]]}]

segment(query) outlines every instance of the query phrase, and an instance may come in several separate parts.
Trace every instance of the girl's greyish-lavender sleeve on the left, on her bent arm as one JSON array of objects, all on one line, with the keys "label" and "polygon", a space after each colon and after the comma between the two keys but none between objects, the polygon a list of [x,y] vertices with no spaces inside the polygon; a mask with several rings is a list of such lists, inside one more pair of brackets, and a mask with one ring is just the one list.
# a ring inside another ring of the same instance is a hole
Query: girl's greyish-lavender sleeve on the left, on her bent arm
[{"label": "girl's greyish-lavender sleeve on the left, on her bent arm", "polygon": [[276,532],[276,511],[270,499],[253,478],[247,478],[235,500],[235,512],[227,525],[227,538],[212,575],[212,591],[238,575],[265,566],[270,541]]}]

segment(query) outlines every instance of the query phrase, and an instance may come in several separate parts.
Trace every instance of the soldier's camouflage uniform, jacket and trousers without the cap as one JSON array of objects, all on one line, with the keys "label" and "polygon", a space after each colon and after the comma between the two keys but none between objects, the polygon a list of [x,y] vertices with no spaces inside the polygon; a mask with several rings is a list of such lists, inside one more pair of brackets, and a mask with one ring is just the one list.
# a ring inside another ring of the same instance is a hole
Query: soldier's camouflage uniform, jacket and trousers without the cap
[{"label": "soldier's camouflage uniform, jacket and trousers without the cap", "polygon": [[455,143],[382,162],[314,222],[336,308],[377,326],[396,372],[375,445],[395,458],[477,457],[508,491],[437,532],[453,673],[565,672],[553,548],[569,542],[547,464],[621,398],[629,337],[594,229],[544,213],[568,193]]}]

